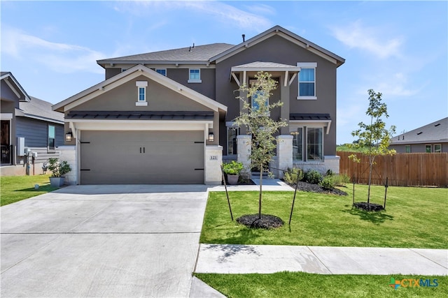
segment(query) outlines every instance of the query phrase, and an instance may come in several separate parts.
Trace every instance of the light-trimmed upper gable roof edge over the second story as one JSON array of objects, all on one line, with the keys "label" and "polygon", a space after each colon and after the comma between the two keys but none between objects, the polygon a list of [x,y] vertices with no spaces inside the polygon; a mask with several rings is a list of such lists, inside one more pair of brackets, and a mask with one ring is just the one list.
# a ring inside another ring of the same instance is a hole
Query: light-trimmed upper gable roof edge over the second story
[{"label": "light-trimmed upper gable roof edge over the second story", "polygon": [[261,43],[263,40],[266,40],[267,38],[271,38],[272,36],[276,35],[281,36],[282,38],[285,38],[286,40],[289,40],[290,42],[295,43],[296,45],[300,45],[300,47],[303,47],[304,49],[307,49],[310,52],[313,52],[314,54],[323,57],[328,61],[331,61],[333,64],[336,64],[337,66],[341,66],[345,62],[345,59],[337,56],[337,54],[325,50],[323,47],[320,47],[315,43],[311,43],[311,41],[306,40],[301,36],[298,36],[297,34],[288,31],[280,26],[272,27],[271,29],[262,32],[257,36],[254,36],[253,38],[250,38],[244,41],[243,43],[240,43],[239,45],[235,45],[235,47],[225,50],[224,52],[217,54],[215,57],[211,57],[210,61],[211,62],[215,61],[216,63],[219,63],[225,59],[228,59],[229,57],[232,57],[235,54],[238,54],[239,52],[246,50],[248,47]]}]

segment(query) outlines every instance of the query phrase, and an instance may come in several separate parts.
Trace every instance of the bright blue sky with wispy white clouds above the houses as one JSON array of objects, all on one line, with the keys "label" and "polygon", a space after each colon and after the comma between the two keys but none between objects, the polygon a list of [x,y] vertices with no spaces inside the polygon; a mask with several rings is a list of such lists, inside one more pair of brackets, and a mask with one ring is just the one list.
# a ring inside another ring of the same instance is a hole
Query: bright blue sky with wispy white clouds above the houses
[{"label": "bright blue sky with wispy white clouds above the houses", "polygon": [[280,25],[346,59],[337,143],[383,94],[397,133],[448,116],[447,1],[1,1],[1,70],[57,103],[104,80],[96,60],[241,43]]}]

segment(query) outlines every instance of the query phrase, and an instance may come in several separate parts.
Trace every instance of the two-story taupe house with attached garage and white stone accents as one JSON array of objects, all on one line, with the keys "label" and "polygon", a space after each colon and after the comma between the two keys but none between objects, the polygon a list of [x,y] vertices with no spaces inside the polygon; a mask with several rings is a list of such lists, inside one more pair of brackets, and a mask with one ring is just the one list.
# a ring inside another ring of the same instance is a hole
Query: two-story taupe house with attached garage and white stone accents
[{"label": "two-story taupe house with attached garage and white stone accents", "polygon": [[283,106],[270,116],[288,120],[271,167],[339,172],[336,73],[344,59],[282,27],[239,45],[193,44],[97,64],[104,82],[53,106],[73,134],[62,151],[76,169],[71,183],[221,184],[222,161],[248,165],[251,137],[235,127],[236,96],[258,71],[279,82],[269,100]]}]

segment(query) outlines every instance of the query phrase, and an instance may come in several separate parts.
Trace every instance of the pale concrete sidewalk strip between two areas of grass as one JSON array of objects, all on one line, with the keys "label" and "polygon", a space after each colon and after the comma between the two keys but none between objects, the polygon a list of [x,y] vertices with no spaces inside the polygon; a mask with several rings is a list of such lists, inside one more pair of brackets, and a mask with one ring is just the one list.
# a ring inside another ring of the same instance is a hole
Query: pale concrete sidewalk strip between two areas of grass
[{"label": "pale concrete sidewalk strip between two areas of grass", "polygon": [[201,244],[195,272],[448,275],[448,250]]}]

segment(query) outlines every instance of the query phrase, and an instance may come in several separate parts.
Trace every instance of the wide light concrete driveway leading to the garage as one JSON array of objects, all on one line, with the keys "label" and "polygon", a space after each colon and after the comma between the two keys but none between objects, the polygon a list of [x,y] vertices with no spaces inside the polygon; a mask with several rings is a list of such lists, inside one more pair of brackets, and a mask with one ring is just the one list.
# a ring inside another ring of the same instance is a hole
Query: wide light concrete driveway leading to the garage
[{"label": "wide light concrete driveway leading to the garage", "polygon": [[188,297],[207,186],[69,186],[1,207],[1,297]]}]

